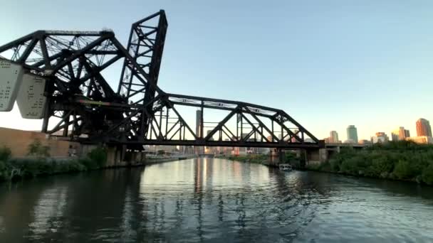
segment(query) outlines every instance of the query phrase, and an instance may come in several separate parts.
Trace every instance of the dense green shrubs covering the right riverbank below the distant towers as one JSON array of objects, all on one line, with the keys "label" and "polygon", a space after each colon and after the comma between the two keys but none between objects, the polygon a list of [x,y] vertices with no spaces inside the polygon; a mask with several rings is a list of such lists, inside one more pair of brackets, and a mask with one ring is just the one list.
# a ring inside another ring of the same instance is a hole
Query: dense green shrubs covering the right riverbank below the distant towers
[{"label": "dense green shrubs covering the right riverbank below the distant towers", "polygon": [[433,185],[433,146],[398,141],[375,144],[362,150],[344,148],[329,161],[307,165],[306,168],[311,171]]}]

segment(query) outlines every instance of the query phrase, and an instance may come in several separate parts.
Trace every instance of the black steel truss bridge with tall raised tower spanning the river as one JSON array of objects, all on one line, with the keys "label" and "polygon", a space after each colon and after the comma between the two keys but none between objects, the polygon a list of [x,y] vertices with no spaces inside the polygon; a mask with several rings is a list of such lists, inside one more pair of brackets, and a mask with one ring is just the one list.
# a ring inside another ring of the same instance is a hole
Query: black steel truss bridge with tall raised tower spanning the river
[{"label": "black steel truss bridge with tall raised tower spanning the river", "polygon": [[[137,150],[323,146],[281,109],[161,90],[167,26],[163,10],[132,23],[126,48],[110,30],[36,31],[2,45],[0,58],[46,80],[42,131],[61,139]],[[107,81],[115,72],[117,87]]]}]

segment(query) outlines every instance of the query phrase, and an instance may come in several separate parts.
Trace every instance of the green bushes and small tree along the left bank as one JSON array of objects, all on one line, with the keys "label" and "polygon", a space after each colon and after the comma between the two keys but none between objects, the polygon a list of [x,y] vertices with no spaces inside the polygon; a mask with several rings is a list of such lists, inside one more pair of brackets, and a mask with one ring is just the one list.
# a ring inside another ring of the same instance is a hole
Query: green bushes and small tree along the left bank
[{"label": "green bushes and small tree along the left bank", "polygon": [[49,148],[36,141],[29,146],[28,154],[28,158],[11,158],[10,148],[0,148],[0,180],[96,170],[107,162],[107,152],[100,147],[83,158],[54,159],[47,157]]}]

